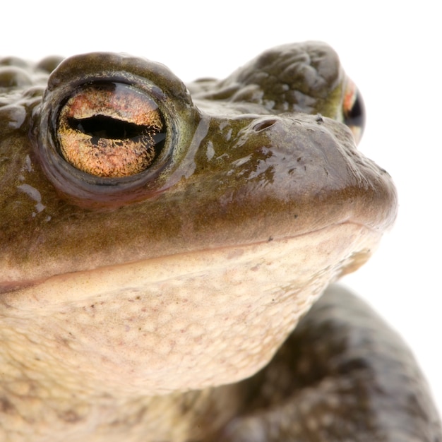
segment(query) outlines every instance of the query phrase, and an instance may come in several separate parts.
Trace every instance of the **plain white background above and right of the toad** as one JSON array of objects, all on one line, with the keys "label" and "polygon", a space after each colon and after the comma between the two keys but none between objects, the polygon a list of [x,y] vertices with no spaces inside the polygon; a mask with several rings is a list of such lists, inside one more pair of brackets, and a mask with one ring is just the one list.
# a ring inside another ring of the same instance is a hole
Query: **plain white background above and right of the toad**
[{"label": "plain white background above and right of the toad", "polygon": [[410,343],[442,410],[438,2],[4,3],[1,55],[129,52],[162,61],[185,81],[226,76],[276,44],[324,40],[335,47],[364,95],[368,121],[360,148],[390,172],[400,196],[393,231],[344,282]]}]

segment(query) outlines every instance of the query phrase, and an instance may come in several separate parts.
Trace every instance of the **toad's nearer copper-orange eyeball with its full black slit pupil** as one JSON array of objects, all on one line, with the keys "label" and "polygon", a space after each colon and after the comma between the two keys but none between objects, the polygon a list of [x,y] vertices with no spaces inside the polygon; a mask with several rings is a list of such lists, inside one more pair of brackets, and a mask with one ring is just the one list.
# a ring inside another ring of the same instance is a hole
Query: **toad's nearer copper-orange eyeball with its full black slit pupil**
[{"label": "toad's nearer copper-orange eyeball with its full black slit pupil", "polygon": [[145,92],[123,83],[83,85],[61,107],[56,126],[61,156],[95,177],[145,171],[165,145],[165,121]]}]

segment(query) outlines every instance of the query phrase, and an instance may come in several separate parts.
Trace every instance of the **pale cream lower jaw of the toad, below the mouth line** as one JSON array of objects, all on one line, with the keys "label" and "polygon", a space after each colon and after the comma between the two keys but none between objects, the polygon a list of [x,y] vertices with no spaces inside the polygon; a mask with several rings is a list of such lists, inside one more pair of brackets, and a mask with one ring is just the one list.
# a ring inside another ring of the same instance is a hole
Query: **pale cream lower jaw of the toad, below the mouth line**
[{"label": "pale cream lower jaw of the toad, below the mouth line", "polygon": [[49,277],[4,295],[2,328],[32,335],[47,350],[39,356],[47,373],[54,364],[57,376],[96,393],[232,383],[265,366],[323,289],[362,265],[380,237],[346,222]]}]

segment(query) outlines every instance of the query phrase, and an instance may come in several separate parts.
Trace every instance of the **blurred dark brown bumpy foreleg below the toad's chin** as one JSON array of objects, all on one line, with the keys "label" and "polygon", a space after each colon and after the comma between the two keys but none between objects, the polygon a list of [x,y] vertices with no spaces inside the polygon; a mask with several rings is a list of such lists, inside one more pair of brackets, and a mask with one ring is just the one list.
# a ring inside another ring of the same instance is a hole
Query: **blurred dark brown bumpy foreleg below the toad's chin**
[{"label": "blurred dark brown bumpy foreleg below the toad's chin", "polygon": [[272,363],[241,387],[249,410],[227,426],[223,441],[442,440],[410,350],[339,286],[325,291]]}]

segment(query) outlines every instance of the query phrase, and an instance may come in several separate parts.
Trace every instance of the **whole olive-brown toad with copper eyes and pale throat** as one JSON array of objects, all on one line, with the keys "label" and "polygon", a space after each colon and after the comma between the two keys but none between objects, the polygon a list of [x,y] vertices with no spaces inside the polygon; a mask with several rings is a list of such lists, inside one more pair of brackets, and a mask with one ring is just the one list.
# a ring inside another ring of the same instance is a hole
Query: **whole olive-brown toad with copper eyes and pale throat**
[{"label": "whole olive-brown toad with copper eyes and pale throat", "polygon": [[0,90],[1,440],[442,440],[407,347],[326,289],[397,209],[333,49],[187,86],[4,59]]}]

